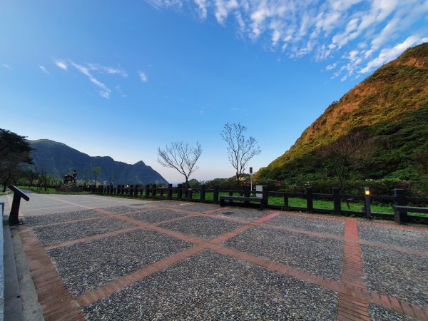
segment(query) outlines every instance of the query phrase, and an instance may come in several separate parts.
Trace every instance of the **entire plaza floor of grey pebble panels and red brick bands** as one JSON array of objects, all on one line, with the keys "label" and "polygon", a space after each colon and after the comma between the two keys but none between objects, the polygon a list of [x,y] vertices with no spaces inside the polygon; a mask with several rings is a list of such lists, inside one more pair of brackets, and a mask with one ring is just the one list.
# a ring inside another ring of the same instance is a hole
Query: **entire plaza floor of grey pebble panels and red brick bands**
[{"label": "entire plaza floor of grey pebble panels and red brick bands", "polygon": [[45,320],[428,320],[423,226],[29,196],[11,233]]}]

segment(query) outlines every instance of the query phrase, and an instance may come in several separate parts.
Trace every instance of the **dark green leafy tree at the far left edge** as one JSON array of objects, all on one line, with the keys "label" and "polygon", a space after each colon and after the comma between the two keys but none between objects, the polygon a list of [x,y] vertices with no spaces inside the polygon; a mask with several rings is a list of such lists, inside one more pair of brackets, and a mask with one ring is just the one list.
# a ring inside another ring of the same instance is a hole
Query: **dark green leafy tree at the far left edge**
[{"label": "dark green leafy tree at the far left edge", "polygon": [[3,191],[11,180],[17,180],[24,165],[33,163],[31,146],[25,136],[0,128],[0,179]]}]

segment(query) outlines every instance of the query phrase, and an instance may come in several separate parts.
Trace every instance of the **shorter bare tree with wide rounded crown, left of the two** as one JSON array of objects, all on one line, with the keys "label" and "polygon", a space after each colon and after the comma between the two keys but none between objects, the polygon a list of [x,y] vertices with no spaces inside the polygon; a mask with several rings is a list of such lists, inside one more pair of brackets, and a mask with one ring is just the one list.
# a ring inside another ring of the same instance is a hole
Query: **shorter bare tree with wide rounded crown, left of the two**
[{"label": "shorter bare tree with wide rounded crown, left of the two", "polygon": [[190,175],[198,170],[196,162],[200,154],[202,154],[202,147],[198,142],[196,142],[196,147],[183,141],[175,142],[171,143],[170,146],[165,146],[165,149],[158,148],[158,163],[178,170],[178,173],[184,175],[185,186],[188,187]]}]

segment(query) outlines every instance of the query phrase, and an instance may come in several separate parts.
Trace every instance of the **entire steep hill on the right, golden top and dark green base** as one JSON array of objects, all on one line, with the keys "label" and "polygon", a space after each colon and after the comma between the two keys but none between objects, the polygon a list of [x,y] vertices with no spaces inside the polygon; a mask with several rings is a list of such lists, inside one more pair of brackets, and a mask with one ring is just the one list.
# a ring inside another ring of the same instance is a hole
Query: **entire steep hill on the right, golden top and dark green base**
[{"label": "entire steep hill on the right, golden top and dark green base", "polygon": [[355,170],[360,178],[424,174],[420,160],[428,157],[428,43],[407,49],[328,106],[258,176],[325,178],[335,164],[322,151],[355,135],[364,139],[358,152],[365,165]]}]

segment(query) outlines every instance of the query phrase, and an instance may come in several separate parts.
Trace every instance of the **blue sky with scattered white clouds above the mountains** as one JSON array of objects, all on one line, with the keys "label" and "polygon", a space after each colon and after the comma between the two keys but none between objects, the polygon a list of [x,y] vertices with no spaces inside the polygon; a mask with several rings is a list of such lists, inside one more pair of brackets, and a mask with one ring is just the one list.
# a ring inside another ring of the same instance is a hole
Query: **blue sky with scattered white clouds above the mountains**
[{"label": "blue sky with scattered white clouds above the mountains", "polygon": [[192,178],[230,177],[226,122],[258,170],[427,26],[428,0],[1,1],[0,127],[170,182],[157,148],[199,141]]}]

